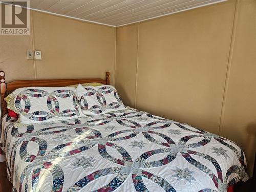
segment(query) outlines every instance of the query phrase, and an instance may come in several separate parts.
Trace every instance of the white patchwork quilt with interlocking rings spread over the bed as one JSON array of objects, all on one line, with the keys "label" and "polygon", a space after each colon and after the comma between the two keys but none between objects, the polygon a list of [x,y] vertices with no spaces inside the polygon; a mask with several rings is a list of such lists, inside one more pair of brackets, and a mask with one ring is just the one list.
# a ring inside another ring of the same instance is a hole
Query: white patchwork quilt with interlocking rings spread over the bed
[{"label": "white patchwork quilt with interlocking rings spread over the bed", "polygon": [[2,139],[13,191],[227,191],[247,180],[234,142],[126,108],[15,128]]}]

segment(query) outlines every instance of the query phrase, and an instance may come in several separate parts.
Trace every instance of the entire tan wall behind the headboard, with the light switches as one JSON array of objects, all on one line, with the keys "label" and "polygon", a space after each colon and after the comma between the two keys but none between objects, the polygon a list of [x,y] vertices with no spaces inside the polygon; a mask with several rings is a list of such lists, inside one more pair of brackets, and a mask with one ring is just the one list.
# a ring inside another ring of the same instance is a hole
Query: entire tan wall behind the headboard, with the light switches
[{"label": "entire tan wall behind the headboard, with the light switches", "polygon": [[[30,36],[0,36],[6,80],[104,78],[115,83],[115,28],[31,11]],[[42,60],[27,60],[41,50]]]}]

